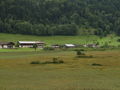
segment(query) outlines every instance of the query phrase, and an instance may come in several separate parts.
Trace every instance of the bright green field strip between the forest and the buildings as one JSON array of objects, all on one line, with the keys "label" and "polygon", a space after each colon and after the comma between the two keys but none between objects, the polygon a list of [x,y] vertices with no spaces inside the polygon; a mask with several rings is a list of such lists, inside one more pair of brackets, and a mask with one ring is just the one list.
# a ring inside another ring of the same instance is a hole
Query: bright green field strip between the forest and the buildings
[{"label": "bright green field strip between the forest and the buildings", "polygon": [[108,36],[100,38],[98,36],[30,36],[30,35],[16,35],[16,34],[0,34],[0,41],[44,41],[47,45],[50,44],[91,44],[99,42],[100,45],[108,43],[112,46],[120,45],[120,42],[117,42],[117,39],[120,37],[117,36]]}]

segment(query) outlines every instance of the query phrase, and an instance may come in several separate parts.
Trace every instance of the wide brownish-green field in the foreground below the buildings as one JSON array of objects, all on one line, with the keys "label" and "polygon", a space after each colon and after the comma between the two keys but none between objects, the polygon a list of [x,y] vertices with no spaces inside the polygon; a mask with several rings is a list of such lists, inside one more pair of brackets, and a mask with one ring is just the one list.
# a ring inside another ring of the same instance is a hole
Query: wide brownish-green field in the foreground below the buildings
[{"label": "wide brownish-green field in the foreground below the buildings", "polygon": [[[120,90],[120,51],[1,52],[0,90]],[[37,64],[59,57],[64,64]],[[92,66],[98,63],[103,66]]]}]

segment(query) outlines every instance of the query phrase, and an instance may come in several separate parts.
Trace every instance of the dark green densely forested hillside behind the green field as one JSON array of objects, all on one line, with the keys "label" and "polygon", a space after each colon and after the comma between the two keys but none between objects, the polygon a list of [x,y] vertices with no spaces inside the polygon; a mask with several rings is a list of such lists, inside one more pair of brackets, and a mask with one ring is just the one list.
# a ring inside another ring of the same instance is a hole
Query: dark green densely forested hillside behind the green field
[{"label": "dark green densely forested hillside behind the green field", "polygon": [[0,32],[120,35],[120,0],[0,0]]}]

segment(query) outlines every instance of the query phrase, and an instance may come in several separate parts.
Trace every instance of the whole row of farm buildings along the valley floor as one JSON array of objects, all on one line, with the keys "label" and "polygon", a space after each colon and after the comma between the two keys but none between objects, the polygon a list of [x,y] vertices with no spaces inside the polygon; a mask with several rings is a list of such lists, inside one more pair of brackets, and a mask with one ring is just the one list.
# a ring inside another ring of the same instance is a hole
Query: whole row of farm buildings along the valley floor
[{"label": "whole row of farm buildings along the valley floor", "polygon": [[[14,42],[0,42],[0,48],[32,48],[33,45],[36,44],[38,48],[43,48],[46,44],[45,42],[41,41],[18,41],[17,43]],[[64,44],[64,45],[58,45],[54,44],[51,45],[50,47],[52,48],[76,48],[76,47],[91,47],[91,48],[96,48],[98,45],[96,44],[85,44],[85,45],[75,45],[75,44]]]}]

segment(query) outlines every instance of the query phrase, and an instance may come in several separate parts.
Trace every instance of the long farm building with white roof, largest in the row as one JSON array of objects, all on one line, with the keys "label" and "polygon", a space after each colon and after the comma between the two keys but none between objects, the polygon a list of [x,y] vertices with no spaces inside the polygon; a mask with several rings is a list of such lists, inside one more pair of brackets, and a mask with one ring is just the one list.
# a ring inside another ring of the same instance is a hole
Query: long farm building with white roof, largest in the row
[{"label": "long farm building with white roof, largest in the row", "polygon": [[18,41],[19,47],[32,48],[36,44],[38,48],[43,48],[45,43],[41,41]]}]

